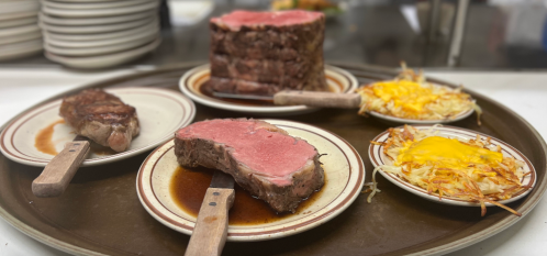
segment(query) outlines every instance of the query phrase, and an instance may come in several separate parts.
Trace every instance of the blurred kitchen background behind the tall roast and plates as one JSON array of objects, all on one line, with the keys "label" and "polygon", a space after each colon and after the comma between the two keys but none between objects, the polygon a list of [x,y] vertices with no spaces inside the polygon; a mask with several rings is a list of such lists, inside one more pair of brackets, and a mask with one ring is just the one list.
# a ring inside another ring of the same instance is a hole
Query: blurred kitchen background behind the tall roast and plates
[{"label": "blurred kitchen background behind the tall roast and plates", "polygon": [[[327,14],[327,60],[391,67],[404,60],[413,67],[547,68],[544,0],[328,2],[337,10]],[[275,4],[269,0],[164,0],[158,8],[161,43],[150,54],[124,65],[206,60],[209,18],[234,9],[270,10]],[[57,64],[40,54],[0,62],[0,66],[19,65]]]}]

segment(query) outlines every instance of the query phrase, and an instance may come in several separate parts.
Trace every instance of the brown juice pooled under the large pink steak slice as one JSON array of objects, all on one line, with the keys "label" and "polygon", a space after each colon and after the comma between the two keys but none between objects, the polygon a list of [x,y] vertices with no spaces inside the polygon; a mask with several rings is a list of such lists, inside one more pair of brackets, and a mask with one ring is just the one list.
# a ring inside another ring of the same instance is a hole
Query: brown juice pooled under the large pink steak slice
[{"label": "brown juice pooled under the large pink steak slice", "polygon": [[[214,169],[204,167],[177,167],[171,178],[169,190],[175,202],[185,212],[198,216],[205,191],[213,178],[213,172]],[[228,223],[232,225],[265,224],[291,215],[291,213],[277,214],[265,201],[252,197],[250,193],[242,189],[237,183],[235,183],[234,189],[235,201],[228,213]],[[295,213],[303,212],[321,197],[322,191],[323,189],[312,193],[306,200],[302,201],[297,208]]]}]

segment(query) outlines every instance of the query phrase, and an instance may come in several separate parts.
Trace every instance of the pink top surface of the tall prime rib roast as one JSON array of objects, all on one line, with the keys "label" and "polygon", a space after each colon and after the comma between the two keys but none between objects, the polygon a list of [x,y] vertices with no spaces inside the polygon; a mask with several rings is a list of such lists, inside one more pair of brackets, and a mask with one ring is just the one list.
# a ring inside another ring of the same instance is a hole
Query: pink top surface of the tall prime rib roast
[{"label": "pink top surface of the tall prime rib roast", "polygon": [[323,16],[323,13],[301,10],[277,12],[234,11],[220,18],[212,18],[211,22],[224,23],[232,29],[238,30],[242,25],[295,25],[313,22],[320,16]]}]

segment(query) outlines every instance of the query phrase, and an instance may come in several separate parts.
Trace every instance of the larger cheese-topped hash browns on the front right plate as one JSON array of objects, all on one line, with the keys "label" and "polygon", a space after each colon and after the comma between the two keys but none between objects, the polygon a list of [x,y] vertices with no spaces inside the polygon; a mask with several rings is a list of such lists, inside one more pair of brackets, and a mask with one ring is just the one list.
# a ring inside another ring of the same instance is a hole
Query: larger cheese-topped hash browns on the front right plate
[{"label": "larger cheese-topped hash browns on the front right plate", "polygon": [[[402,131],[390,129],[388,140],[381,145],[393,164],[377,168],[438,196],[439,200],[445,197],[480,203],[482,216],[487,202],[521,215],[498,201],[529,189],[521,183],[529,172],[524,172],[523,162],[503,156],[501,147],[490,140],[479,135],[469,141],[446,138],[436,136],[433,129],[417,130],[410,125]],[[375,192],[375,179],[370,187]]]}]

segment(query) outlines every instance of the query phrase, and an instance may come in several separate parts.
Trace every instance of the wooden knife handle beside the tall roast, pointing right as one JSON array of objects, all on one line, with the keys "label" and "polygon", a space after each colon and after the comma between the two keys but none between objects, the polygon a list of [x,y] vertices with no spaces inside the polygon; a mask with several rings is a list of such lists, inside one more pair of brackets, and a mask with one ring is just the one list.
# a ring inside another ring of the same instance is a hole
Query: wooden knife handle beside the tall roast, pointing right
[{"label": "wooden knife handle beside the tall roast, pointing right", "polygon": [[358,93],[335,93],[323,91],[280,91],[274,94],[275,104],[305,104],[320,108],[357,109],[361,103]]}]

